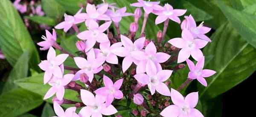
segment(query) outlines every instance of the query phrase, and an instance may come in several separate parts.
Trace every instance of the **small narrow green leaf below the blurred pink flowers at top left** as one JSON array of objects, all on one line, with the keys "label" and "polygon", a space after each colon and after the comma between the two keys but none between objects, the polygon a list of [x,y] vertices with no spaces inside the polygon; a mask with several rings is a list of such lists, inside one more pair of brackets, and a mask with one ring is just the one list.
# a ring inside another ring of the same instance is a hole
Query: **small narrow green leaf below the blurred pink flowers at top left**
[{"label": "small narrow green leaf below the blurred pink flowers at top left", "polygon": [[56,22],[51,17],[42,17],[42,16],[26,16],[25,18],[34,21],[38,24],[47,24],[49,26],[55,26]]}]

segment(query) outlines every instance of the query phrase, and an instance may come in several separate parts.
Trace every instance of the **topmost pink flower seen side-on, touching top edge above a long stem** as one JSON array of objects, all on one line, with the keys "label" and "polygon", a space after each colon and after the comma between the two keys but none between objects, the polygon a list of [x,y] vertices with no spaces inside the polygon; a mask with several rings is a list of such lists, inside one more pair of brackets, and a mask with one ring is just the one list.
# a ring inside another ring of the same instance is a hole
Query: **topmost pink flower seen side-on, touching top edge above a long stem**
[{"label": "topmost pink flower seen side-on, touching top edge above a long stem", "polygon": [[158,5],[160,2],[150,2],[138,0],[138,3],[132,3],[131,6],[143,7],[146,14],[150,14],[153,10],[163,10],[163,7]]}]

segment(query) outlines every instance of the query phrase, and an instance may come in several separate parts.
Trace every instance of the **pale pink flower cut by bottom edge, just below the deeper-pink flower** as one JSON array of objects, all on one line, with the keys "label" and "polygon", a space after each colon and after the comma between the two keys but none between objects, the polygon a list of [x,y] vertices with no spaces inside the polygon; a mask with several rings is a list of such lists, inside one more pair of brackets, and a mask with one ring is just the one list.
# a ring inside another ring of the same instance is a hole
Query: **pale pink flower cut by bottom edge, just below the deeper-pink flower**
[{"label": "pale pink flower cut by bottom edge, just below the deeper-pink flower", "polygon": [[81,117],[102,117],[102,114],[112,115],[117,113],[113,105],[106,106],[105,100],[101,96],[96,95],[94,97],[90,91],[81,89],[81,100],[86,105],[79,112]]}]

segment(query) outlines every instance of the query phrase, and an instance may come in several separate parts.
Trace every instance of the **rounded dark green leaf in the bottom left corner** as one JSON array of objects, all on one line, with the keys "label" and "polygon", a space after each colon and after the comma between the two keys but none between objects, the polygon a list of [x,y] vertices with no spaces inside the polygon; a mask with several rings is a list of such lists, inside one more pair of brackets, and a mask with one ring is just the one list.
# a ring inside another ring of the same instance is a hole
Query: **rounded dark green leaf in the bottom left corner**
[{"label": "rounded dark green leaf in the bottom left corner", "polygon": [[0,96],[0,117],[16,117],[43,103],[41,96],[16,88]]}]

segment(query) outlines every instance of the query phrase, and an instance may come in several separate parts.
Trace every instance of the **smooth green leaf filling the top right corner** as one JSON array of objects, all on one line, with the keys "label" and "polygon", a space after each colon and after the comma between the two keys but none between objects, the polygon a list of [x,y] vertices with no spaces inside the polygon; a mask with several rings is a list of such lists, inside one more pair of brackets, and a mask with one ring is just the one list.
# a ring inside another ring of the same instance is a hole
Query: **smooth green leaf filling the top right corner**
[{"label": "smooth green leaf filling the top right corner", "polygon": [[256,48],[256,17],[253,14],[247,14],[242,11],[237,11],[224,5],[222,2],[218,2],[219,7],[223,11],[224,15],[233,25],[233,27],[241,34],[241,36],[247,40],[253,47]]}]

